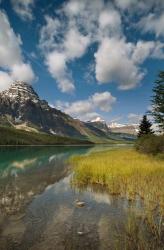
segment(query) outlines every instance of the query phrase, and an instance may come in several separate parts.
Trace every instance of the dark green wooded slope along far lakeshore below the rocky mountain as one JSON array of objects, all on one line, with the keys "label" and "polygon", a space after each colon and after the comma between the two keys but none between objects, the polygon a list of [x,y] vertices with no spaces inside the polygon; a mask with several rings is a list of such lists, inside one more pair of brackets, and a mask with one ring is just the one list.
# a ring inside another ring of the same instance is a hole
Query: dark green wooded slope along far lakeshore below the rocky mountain
[{"label": "dark green wooded slope along far lakeshore below the rocky mountain", "polygon": [[0,145],[68,145],[91,144],[87,140],[26,132],[9,127],[0,127]]}]

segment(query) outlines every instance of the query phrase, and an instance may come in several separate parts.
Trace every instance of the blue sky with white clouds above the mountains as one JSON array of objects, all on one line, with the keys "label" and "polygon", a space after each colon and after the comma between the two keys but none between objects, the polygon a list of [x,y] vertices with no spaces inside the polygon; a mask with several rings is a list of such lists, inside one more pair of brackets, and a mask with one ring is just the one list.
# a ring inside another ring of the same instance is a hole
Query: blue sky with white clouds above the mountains
[{"label": "blue sky with white clouds above the mountains", "polygon": [[164,0],[0,0],[0,91],[14,80],[83,121],[138,123],[164,70]]}]

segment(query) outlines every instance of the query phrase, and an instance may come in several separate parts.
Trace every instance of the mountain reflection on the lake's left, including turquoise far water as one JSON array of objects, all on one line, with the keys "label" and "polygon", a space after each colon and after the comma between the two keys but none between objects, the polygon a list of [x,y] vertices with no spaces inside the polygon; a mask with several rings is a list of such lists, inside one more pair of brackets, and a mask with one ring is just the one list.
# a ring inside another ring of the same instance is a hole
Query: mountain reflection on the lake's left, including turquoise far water
[{"label": "mountain reflection on the lake's left, including turquoise far water", "polygon": [[87,147],[6,147],[0,150],[1,214],[20,211],[31,198],[68,172],[65,160]]}]

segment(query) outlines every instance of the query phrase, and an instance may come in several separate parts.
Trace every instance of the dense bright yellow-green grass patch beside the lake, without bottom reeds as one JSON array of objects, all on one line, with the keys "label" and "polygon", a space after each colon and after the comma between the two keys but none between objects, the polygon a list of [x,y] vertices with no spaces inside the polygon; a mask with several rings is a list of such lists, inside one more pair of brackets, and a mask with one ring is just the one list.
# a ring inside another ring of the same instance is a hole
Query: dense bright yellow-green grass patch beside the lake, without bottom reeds
[{"label": "dense bright yellow-green grass patch beside the lake, without bottom reeds", "polygon": [[148,210],[159,206],[164,215],[164,158],[134,149],[114,149],[71,158],[76,185],[100,184],[129,200],[139,195]]}]

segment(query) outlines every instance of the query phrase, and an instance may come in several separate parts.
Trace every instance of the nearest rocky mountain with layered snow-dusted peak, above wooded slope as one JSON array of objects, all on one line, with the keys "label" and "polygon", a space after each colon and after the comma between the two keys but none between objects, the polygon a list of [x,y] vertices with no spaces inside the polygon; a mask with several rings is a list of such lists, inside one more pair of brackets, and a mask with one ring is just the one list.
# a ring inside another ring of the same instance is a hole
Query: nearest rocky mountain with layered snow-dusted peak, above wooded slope
[{"label": "nearest rocky mountain with layered snow-dusted peak, above wooded slope", "polygon": [[88,134],[82,122],[50,107],[45,100],[40,100],[30,85],[20,81],[0,93],[0,116],[1,123],[26,123],[51,134],[76,137]]}]

